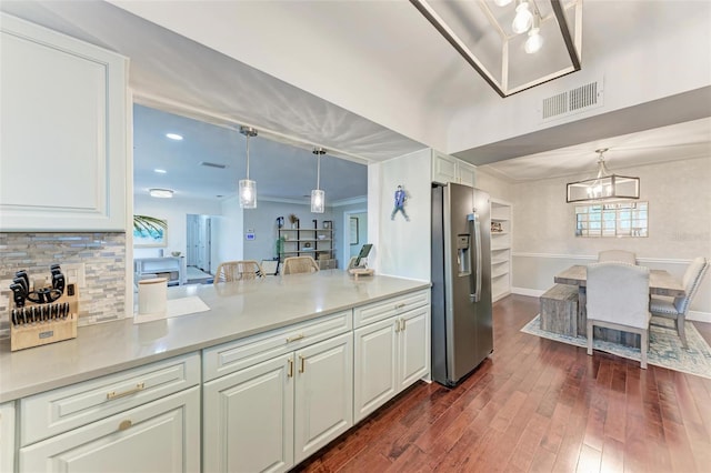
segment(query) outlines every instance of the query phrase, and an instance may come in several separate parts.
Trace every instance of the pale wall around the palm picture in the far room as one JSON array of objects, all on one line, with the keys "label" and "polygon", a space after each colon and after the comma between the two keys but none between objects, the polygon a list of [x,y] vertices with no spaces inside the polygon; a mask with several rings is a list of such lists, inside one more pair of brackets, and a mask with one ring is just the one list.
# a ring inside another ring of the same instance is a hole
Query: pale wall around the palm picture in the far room
[{"label": "pale wall around the palm picture in the far room", "polygon": [[[168,245],[166,248],[134,248],[133,258],[158,256],[163,250],[166,256],[171,251],[187,253],[187,225],[189,213],[219,215],[220,203],[197,199],[154,199],[148,195],[134,195],[133,214],[150,215],[168,221]],[[213,260],[214,261],[214,260]]]}]

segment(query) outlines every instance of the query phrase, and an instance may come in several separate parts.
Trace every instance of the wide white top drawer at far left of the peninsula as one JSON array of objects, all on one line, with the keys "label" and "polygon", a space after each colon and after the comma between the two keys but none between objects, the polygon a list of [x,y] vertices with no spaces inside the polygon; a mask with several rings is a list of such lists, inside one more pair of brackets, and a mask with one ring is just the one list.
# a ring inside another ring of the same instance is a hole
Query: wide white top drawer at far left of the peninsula
[{"label": "wide white top drawer at far left of the peninsula", "polygon": [[200,384],[192,353],[20,401],[22,446]]}]

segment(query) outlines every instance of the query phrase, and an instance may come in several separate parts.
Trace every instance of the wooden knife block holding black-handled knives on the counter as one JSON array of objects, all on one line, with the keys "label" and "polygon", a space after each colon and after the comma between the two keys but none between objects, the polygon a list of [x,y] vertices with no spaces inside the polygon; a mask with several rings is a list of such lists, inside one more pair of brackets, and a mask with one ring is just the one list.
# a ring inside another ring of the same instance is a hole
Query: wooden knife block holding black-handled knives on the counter
[{"label": "wooden knife block holding black-handled knives on the counter", "polygon": [[[72,286],[70,291],[70,286]],[[72,295],[68,295],[72,292]],[[12,302],[12,301],[11,301]],[[14,325],[12,323],[11,303],[8,316],[10,318],[10,351],[30,349],[32,346],[47,345],[49,343],[61,342],[77,338],[77,319],[79,314],[79,288],[74,283],[67,284],[67,289],[61,298],[49,304],[38,304],[31,301],[24,303],[26,308],[32,305],[50,305],[69,303],[69,315],[67,319],[34,322],[27,325]]]}]

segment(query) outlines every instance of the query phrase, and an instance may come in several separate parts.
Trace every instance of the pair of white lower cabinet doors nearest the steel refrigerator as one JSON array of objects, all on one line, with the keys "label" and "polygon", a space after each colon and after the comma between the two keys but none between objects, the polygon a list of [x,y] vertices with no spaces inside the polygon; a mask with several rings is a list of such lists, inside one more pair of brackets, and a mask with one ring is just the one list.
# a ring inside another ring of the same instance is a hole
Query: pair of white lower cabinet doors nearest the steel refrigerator
[{"label": "pair of white lower cabinet doors nearest the steel refrigerator", "polygon": [[430,371],[430,306],[354,331],[354,422]]}]

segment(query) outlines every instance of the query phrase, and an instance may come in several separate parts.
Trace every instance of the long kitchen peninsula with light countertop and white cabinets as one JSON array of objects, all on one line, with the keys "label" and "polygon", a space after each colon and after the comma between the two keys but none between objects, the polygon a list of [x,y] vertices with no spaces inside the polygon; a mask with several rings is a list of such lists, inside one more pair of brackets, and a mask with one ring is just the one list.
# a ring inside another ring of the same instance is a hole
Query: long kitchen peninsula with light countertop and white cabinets
[{"label": "long kitchen peninsula with light countertop and white cabinets", "polygon": [[126,471],[288,470],[429,376],[429,285],[329,270],[177,286],[169,299],[210,310],[13,353],[3,341],[19,471],[109,457]]}]

